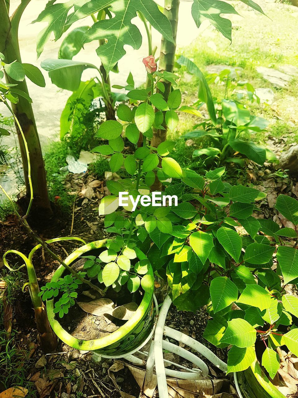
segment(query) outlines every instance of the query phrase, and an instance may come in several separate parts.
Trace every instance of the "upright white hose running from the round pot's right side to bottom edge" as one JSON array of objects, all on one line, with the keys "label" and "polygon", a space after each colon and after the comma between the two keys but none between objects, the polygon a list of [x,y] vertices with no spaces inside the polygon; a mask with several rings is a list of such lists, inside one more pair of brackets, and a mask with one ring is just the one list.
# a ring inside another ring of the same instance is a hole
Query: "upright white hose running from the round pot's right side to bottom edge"
[{"label": "upright white hose running from the round pot's right side to bottom edge", "polygon": [[160,398],[169,398],[168,386],[166,383],[166,372],[163,362],[163,331],[164,323],[166,321],[166,315],[168,314],[168,310],[171,304],[172,300],[167,295],[164,299],[163,305],[161,306],[154,334],[155,371]]}]

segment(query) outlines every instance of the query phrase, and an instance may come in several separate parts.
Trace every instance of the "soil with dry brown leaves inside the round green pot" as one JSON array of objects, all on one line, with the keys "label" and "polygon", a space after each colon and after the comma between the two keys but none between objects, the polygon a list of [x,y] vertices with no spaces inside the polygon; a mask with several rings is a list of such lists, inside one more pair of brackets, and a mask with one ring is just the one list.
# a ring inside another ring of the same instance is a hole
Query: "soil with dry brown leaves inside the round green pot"
[{"label": "soil with dry brown leaves inside the round green pot", "polygon": [[[72,267],[82,271],[85,261],[80,258]],[[97,285],[105,289],[103,284]],[[75,305],[68,314],[63,318],[56,315],[56,319],[72,336],[83,340],[99,339],[115,332],[131,318],[144,295],[142,289],[130,293],[126,285],[119,292],[109,287],[104,297],[85,284],[79,285],[77,293]]]}]

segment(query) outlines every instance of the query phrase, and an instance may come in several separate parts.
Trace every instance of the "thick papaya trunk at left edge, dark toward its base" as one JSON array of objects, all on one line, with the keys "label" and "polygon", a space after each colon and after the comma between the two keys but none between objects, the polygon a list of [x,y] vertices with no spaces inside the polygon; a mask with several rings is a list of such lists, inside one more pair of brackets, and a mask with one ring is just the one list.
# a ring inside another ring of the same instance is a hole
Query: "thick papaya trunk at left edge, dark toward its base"
[{"label": "thick papaya trunk at left edge, dark toward its base", "polygon": [[[25,10],[25,7],[27,6],[27,4],[29,4],[29,2],[30,0],[23,0],[19,7],[15,10],[12,18],[10,19],[8,9],[6,8],[5,0],[0,0],[0,52],[4,54],[6,63],[11,63],[15,60],[21,62],[18,42],[18,27],[21,15],[23,14],[23,11]],[[22,90],[29,95],[25,79],[23,80],[23,82],[17,82],[14,79],[10,78],[8,75],[6,75],[6,81],[7,83],[17,84],[17,89]],[[25,135],[25,139],[29,148],[30,161],[33,165],[33,170],[31,170],[34,198],[33,208],[35,208],[36,211],[42,211],[44,215],[50,215],[52,211],[46,185],[45,164],[43,161],[43,154],[41,152],[41,144],[39,142],[32,106],[25,98],[19,96],[18,103],[12,103],[12,109],[15,113],[15,116],[19,120],[23,133]],[[26,197],[29,200],[30,186],[28,179],[28,163],[25,146],[19,128],[17,127],[17,125],[15,127],[17,130],[17,137],[19,140],[23,163]]]}]

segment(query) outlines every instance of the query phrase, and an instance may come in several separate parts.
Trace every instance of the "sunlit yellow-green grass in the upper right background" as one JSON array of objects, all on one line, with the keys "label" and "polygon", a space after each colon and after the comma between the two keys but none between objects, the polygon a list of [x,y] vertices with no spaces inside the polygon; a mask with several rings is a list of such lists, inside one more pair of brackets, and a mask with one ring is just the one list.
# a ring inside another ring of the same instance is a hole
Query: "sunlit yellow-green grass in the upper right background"
[{"label": "sunlit yellow-green grass in the upper right background", "polygon": [[[177,54],[193,60],[206,76],[206,66],[210,64],[240,66],[243,68],[240,80],[250,82],[254,88],[271,88],[275,93],[273,105],[260,107],[245,104],[255,115],[271,121],[268,131],[273,137],[287,137],[289,132],[294,133],[288,136],[287,142],[290,143],[298,140],[298,129],[293,127],[298,122],[298,78],[294,78],[287,88],[276,89],[257,73],[256,68],[278,69],[285,64],[298,67],[298,18],[292,15],[296,11],[293,6],[278,3],[262,5],[267,16],[248,12],[243,5],[241,8],[236,6],[244,18],[235,17],[231,44],[210,26],[190,46],[178,49]],[[197,99],[194,87],[198,82],[186,73],[184,67],[180,73],[182,78],[179,84],[184,103],[194,102]],[[211,84],[211,92],[214,97],[223,98],[224,86]],[[195,123],[197,118],[181,116],[179,135],[191,130]],[[256,134],[253,139],[261,144],[266,142],[264,134]]]}]

